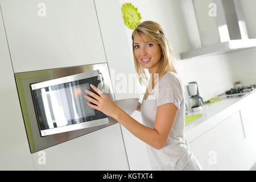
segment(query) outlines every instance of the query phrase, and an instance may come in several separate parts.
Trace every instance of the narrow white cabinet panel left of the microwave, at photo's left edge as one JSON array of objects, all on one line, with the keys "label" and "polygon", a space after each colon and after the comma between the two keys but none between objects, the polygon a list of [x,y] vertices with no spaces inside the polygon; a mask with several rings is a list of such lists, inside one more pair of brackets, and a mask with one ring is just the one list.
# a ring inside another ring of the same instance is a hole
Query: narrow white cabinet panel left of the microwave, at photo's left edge
[{"label": "narrow white cabinet panel left of the microwave, at photo's left edge", "polygon": [[0,10],[0,171],[33,170]]}]

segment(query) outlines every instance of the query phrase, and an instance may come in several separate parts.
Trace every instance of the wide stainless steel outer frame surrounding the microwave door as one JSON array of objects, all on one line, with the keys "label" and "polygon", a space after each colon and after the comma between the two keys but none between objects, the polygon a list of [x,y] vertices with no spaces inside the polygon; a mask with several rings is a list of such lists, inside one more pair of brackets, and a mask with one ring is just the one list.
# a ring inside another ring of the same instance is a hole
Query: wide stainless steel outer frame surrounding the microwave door
[{"label": "wide stainless steel outer frame surrounding the microwave door", "polygon": [[20,106],[22,109],[24,125],[26,127],[27,138],[31,153],[43,150],[51,146],[55,146],[56,144],[66,142],[68,140],[80,137],[91,132],[96,132],[97,130],[103,129],[104,127],[108,127],[114,125],[115,123],[118,123],[115,119],[108,117],[109,123],[107,123],[106,125],[87,127],[84,129],[47,135],[45,137],[42,137],[40,134],[40,126],[38,125],[38,119],[36,118],[36,111],[30,85],[37,82],[44,82],[56,78],[76,75],[84,72],[92,72],[96,70],[98,70],[102,75],[102,77],[100,77],[105,86],[104,89],[106,95],[110,99],[114,100],[112,82],[110,80],[107,63],[15,73],[15,81],[18,88]]}]

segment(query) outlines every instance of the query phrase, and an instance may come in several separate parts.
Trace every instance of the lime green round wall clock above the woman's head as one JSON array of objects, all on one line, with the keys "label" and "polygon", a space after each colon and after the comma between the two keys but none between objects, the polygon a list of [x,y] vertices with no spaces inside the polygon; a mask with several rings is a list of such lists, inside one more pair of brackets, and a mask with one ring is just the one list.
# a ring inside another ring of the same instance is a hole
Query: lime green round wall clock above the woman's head
[{"label": "lime green round wall clock above the woman's head", "polygon": [[131,30],[134,30],[141,23],[141,14],[138,12],[138,8],[134,7],[131,3],[123,4],[122,14],[123,22]]}]

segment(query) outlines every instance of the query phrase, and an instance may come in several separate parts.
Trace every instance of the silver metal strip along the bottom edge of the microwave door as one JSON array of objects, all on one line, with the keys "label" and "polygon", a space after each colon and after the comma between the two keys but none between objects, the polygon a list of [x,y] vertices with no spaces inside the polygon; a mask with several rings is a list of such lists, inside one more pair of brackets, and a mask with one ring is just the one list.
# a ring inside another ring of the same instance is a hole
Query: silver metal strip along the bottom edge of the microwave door
[{"label": "silver metal strip along the bottom edge of the microwave door", "polygon": [[102,119],[97,119],[97,120],[94,120],[94,121],[78,123],[78,124],[75,124],[75,125],[56,127],[54,129],[48,129],[48,130],[41,130],[41,135],[42,135],[42,137],[44,137],[44,136],[47,136],[47,135],[53,135],[53,134],[57,134],[57,133],[67,132],[67,131],[85,129],[87,127],[106,125],[108,123],[109,123],[109,118],[102,118]]}]

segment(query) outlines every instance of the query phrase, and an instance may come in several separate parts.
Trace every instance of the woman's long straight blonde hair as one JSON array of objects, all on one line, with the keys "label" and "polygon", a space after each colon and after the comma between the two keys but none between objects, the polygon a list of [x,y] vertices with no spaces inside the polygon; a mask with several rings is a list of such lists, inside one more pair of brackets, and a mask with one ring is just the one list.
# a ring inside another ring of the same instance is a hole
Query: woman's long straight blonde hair
[{"label": "woman's long straight blonde hair", "polygon": [[[174,72],[177,73],[174,65],[172,63],[173,56],[172,56],[172,51],[170,47],[170,43],[168,42],[166,36],[164,35],[164,31],[162,27],[155,22],[152,21],[145,21],[139,24],[135,30],[133,31],[133,34],[131,35],[131,39],[133,40],[133,57],[134,57],[134,66],[135,66],[135,71],[139,75],[139,82],[140,84],[143,84],[142,79],[146,78],[146,72],[144,71],[144,68],[142,67],[141,64],[139,64],[139,61],[137,60],[135,53],[134,53],[134,38],[137,36],[138,38],[140,35],[146,36],[147,39],[151,40],[152,42],[159,44],[160,51],[162,52],[162,56],[160,59],[159,67],[156,69],[156,73],[158,73],[158,79],[153,80],[152,76],[151,81],[149,82],[149,85],[147,86],[146,90],[146,95],[150,94],[151,90],[154,89],[155,85],[157,82],[166,74],[167,72]],[[146,78],[147,80],[147,78]]]}]

